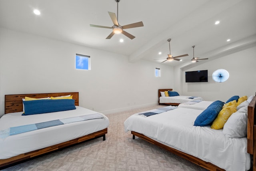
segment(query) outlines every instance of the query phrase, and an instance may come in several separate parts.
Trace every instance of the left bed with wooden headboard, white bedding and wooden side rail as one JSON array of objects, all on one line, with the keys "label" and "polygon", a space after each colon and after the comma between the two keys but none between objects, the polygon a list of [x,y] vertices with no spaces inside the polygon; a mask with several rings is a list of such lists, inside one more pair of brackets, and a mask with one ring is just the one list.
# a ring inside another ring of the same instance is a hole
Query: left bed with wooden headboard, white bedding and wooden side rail
[{"label": "left bed with wooden headboard, white bedding and wooden side rail", "polygon": [[[22,98],[66,95],[72,95],[76,109],[22,116]],[[94,118],[95,115],[98,119]],[[81,117],[87,119],[83,120]],[[0,169],[86,140],[98,137],[103,137],[103,141],[106,139],[108,118],[101,113],[80,107],[78,92],[5,95],[5,115],[0,118],[0,131],[19,125],[57,121],[56,119],[66,123],[0,138]]]}]

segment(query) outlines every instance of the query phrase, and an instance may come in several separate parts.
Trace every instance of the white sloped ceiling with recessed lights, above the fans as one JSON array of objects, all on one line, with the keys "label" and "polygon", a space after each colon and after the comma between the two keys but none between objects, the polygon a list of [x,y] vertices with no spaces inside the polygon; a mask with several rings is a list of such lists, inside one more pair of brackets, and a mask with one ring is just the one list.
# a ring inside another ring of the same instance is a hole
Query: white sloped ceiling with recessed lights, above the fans
[{"label": "white sloped ceiling with recessed lights, above the fans", "polygon": [[256,42],[256,0],[120,0],[118,10],[120,25],[144,23],[126,30],[133,40],[123,34],[106,40],[111,29],[90,27],[113,26],[108,12],[117,14],[115,0],[0,0],[0,27],[123,54],[131,62],[164,61],[154,59],[168,57],[169,38],[172,56],[189,55],[183,63],[190,63],[193,45],[195,57],[213,58]]}]

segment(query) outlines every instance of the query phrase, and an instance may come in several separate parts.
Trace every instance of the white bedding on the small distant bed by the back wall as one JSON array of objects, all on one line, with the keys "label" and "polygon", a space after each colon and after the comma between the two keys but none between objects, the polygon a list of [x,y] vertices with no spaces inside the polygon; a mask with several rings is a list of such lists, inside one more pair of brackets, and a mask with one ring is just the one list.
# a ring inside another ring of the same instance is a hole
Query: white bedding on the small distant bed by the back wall
[{"label": "white bedding on the small distant bed by the back wall", "polygon": [[194,99],[189,99],[189,97],[192,96],[186,96],[186,95],[177,95],[177,96],[171,96],[171,97],[159,97],[160,103],[185,103],[187,101],[192,100],[204,100],[202,97],[195,97]]}]

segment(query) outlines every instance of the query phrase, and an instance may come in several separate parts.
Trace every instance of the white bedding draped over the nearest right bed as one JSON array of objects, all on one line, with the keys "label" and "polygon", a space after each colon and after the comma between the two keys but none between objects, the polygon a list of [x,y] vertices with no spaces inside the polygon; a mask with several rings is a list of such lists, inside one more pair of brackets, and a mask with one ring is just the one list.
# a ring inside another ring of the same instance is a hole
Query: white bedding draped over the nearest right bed
[{"label": "white bedding draped over the nearest right bed", "polygon": [[228,138],[222,129],[193,126],[201,112],[197,109],[177,108],[149,117],[134,114],[124,122],[124,130],[142,133],[227,171],[250,169],[246,137]]}]

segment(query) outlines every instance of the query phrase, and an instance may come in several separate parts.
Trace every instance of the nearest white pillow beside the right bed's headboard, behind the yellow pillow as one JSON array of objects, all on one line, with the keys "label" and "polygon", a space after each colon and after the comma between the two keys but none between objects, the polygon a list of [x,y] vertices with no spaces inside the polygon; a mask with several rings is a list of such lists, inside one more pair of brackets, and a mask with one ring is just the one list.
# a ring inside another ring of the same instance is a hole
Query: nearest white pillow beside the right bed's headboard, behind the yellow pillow
[{"label": "nearest white pillow beside the right bed's headboard, behind the yellow pillow", "polygon": [[224,124],[222,133],[230,138],[246,137],[247,114],[239,111],[233,113]]}]

